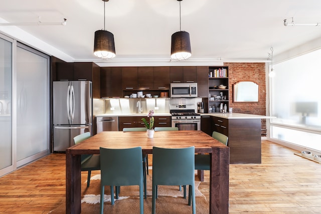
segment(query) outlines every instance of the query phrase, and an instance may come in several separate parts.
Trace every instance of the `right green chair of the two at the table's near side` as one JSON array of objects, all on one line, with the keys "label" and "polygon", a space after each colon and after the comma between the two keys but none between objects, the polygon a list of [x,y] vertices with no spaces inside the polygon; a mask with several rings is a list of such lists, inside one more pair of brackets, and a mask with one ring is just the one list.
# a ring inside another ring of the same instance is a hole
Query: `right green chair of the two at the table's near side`
[{"label": "right green chair of the two at the table's near side", "polygon": [[189,205],[195,206],[195,147],[152,148],[152,213],[155,213],[158,185],[189,185]]}]

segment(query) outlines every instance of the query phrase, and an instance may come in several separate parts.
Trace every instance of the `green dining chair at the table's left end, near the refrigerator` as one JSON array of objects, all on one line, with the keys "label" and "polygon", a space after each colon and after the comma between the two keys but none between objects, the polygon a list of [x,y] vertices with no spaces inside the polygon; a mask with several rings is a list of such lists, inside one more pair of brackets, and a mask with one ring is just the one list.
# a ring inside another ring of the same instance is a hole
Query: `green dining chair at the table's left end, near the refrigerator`
[{"label": "green dining chair at the table's left end, near the refrigerator", "polygon": [[[90,132],[85,132],[74,137],[75,144],[80,143],[91,137]],[[91,171],[100,170],[100,155],[99,154],[82,154],[81,155],[81,171],[88,171],[87,187],[90,184]]]}]

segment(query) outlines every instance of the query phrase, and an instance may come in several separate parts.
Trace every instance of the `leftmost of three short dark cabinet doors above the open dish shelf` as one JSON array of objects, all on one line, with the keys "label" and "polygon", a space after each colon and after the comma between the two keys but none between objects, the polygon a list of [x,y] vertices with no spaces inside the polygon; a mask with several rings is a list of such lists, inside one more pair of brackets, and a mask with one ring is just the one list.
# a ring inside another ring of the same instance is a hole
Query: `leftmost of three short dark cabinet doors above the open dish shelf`
[{"label": "leftmost of three short dark cabinet doors above the open dish shelf", "polygon": [[122,89],[138,89],[138,72],[137,67],[121,68]]}]

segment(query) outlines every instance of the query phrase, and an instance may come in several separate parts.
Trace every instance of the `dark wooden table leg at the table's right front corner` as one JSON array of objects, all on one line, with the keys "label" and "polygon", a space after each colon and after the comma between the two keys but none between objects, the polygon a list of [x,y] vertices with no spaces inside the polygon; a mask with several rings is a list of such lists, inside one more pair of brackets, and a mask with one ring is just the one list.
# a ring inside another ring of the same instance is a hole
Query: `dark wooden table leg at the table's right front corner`
[{"label": "dark wooden table leg at the table's right front corner", "polygon": [[210,213],[229,212],[230,148],[212,147]]}]

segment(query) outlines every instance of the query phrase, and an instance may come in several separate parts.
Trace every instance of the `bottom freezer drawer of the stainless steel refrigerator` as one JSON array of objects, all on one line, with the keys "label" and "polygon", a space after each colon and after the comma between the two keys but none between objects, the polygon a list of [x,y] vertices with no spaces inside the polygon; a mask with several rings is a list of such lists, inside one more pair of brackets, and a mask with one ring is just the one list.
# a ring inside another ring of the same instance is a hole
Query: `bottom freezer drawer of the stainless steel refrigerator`
[{"label": "bottom freezer drawer of the stainless steel refrigerator", "polygon": [[75,145],[74,137],[85,132],[91,133],[91,125],[54,126],[54,151],[66,151]]}]

